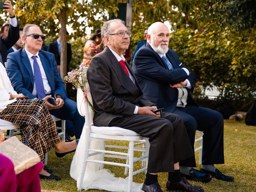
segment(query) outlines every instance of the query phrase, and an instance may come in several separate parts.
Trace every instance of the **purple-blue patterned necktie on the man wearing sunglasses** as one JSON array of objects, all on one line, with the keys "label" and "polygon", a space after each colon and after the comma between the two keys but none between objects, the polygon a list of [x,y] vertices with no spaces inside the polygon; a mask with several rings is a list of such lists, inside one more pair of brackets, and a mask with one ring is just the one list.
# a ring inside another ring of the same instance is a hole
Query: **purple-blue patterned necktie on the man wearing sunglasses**
[{"label": "purple-blue patterned necktie on the man wearing sunglasses", "polygon": [[34,68],[34,78],[35,78],[35,83],[36,83],[37,97],[38,97],[38,99],[42,99],[45,97],[42,74],[41,74],[38,62],[36,60],[36,56],[32,56],[32,59],[34,60],[33,68]]}]

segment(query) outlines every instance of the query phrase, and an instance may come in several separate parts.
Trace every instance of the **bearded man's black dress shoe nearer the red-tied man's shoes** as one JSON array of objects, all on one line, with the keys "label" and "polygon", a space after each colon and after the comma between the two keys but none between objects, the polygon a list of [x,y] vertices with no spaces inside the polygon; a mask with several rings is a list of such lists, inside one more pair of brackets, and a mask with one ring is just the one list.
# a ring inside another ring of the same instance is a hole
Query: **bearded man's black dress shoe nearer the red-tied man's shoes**
[{"label": "bearded man's black dress shoe nearer the red-tied man's shoes", "polygon": [[186,177],[186,179],[194,180],[194,181],[200,181],[204,183],[208,183],[212,180],[212,176],[208,173],[196,170],[194,168],[191,168],[188,172],[189,175],[180,173],[182,177]]}]

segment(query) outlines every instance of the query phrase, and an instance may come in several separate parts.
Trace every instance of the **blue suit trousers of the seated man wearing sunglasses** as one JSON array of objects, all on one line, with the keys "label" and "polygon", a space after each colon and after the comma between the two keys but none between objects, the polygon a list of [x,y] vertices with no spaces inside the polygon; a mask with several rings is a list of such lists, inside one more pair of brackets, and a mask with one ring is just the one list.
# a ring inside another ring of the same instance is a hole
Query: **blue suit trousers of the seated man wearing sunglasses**
[{"label": "blue suit trousers of the seated man wearing sunglasses", "polygon": [[64,99],[64,106],[60,109],[50,110],[50,114],[62,119],[62,120],[70,120],[73,122],[74,133],[76,139],[79,139],[83,126],[84,126],[84,117],[80,116],[77,110],[77,104],[73,100],[69,98]]}]

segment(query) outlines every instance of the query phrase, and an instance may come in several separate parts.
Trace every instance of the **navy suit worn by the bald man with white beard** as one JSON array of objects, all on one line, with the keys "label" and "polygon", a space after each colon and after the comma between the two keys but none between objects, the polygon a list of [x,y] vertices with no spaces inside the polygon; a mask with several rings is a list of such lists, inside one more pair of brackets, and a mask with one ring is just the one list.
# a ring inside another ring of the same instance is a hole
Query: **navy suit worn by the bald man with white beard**
[{"label": "navy suit worn by the bald man with white beard", "polygon": [[[194,148],[196,130],[204,132],[202,164],[223,164],[223,116],[214,110],[199,107],[192,98],[196,83],[196,75],[189,70],[189,75],[182,68],[186,68],[178,55],[169,49],[166,57],[174,70],[169,70],[160,56],[147,43],[138,50],[132,69],[140,84],[145,98],[164,108],[164,112],[178,114],[186,126],[190,143]],[[169,84],[176,84],[188,79],[191,88],[188,91],[187,105],[184,108],[176,107],[178,89],[170,88]],[[194,157],[180,162],[180,166],[195,167]]]}]

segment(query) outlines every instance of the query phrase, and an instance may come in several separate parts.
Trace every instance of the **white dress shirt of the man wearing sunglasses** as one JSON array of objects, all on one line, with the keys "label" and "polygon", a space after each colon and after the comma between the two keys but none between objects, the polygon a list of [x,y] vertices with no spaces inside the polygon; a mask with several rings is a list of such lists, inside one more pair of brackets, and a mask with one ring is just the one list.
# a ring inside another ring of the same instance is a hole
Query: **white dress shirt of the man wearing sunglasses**
[{"label": "white dress shirt of the man wearing sunglasses", "polygon": [[[34,56],[34,55],[33,55],[32,53],[28,52],[28,50],[26,50],[26,48],[25,48],[25,51],[26,51],[26,53],[27,53],[27,55],[28,55],[28,59],[29,59],[29,61],[30,61],[30,65],[31,65],[31,68],[32,68],[32,71],[33,71],[33,74],[34,74],[34,67],[33,67],[33,65],[34,65],[34,59],[32,58],[32,56]],[[35,56],[36,56],[36,61],[38,62],[38,65],[39,65],[39,68],[40,68],[40,72],[41,72],[41,75],[42,75],[42,79],[43,79],[43,83],[44,83],[45,94],[51,93],[52,90],[51,90],[51,88],[50,88],[50,84],[49,84],[49,82],[48,82],[48,79],[47,79],[47,77],[46,77],[46,74],[45,74],[45,72],[44,72],[44,68],[43,68],[42,62],[41,62],[41,60],[40,60],[40,57],[39,57],[39,55],[38,55],[38,52],[35,54]],[[33,94],[34,96],[37,96],[35,80],[34,80],[34,89],[33,89],[32,94]]]}]

